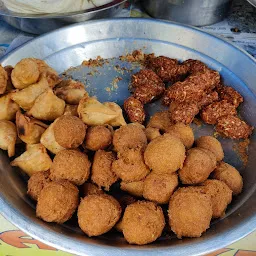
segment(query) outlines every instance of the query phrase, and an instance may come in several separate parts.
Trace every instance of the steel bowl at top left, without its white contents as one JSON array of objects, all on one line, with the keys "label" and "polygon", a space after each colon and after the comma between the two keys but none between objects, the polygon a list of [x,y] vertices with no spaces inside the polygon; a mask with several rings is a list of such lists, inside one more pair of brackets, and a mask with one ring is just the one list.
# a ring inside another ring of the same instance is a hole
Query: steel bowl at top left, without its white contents
[{"label": "steel bowl at top left, without its white contents", "polygon": [[125,2],[127,0],[114,0],[110,4],[75,13],[31,15],[11,12],[0,1],[0,16],[17,29],[44,34],[73,23],[113,17],[124,7]]}]

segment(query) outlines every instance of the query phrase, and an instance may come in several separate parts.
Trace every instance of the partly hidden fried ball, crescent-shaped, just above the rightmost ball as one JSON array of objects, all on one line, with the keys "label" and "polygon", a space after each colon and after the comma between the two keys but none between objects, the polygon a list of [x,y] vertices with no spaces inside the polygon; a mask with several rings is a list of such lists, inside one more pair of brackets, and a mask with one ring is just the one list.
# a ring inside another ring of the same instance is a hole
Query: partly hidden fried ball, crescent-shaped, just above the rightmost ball
[{"label": "partly hidden fried ball, crescent-shaped, just above the rightmost ball", "polygon": [[196,146],[198,148],[205,148],[210,150],[215,156],[217,161],[221,161],[224,158],[223,148],[221,143],[212,136],[202,136],[196,140]]}]

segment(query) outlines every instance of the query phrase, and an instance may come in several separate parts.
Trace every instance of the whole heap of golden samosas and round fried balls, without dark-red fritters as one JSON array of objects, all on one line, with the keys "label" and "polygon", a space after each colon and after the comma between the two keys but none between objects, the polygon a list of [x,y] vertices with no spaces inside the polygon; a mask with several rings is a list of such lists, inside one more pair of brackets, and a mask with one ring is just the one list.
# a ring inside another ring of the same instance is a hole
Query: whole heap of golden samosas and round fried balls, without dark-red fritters
[{"label": "whole heap of golden samosas and round fried balls, without dark-red fritters", "polygon": [[38,59],[0,66],[0,148],[29,176],[37,217],[77,217],[90,237],[117,230],[144,245],[164,230],[200,237],[225,215],[243,179],[216,138],[195,139],[168,111],[127,124],[120,106],[84,88]]}]

